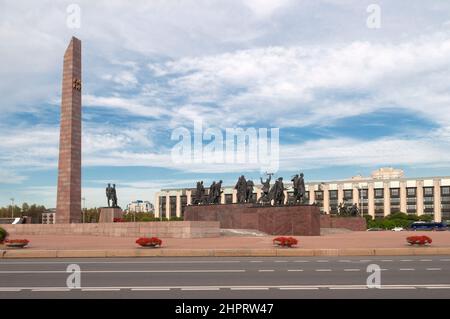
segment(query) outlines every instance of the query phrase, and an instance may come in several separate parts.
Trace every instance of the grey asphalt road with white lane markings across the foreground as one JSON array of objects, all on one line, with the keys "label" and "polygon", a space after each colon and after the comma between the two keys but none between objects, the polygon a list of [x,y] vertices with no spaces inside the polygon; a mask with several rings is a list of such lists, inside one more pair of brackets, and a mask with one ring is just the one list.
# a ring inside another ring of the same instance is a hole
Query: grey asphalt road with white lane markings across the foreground
[{"label": "grey asphalt road with white lane markings across the foreground", "polygon": [[0,298],[450,298],[450,256],[3,259]]}]

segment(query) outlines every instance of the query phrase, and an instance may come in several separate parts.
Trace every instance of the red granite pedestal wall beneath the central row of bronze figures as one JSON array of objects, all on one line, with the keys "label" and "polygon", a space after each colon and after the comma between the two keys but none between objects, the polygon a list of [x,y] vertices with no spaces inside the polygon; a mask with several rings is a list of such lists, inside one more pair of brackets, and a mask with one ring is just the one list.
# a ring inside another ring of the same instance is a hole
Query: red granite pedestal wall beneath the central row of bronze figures
[{"label": "red granite pedestal wall beneath the central row of bronze figures", "polygon": [[188,206],[187,221],[220,222],[220,228],[257,229],[271,235],[320,235],[320,211],[316,206],[254,206],[226,204]]}]

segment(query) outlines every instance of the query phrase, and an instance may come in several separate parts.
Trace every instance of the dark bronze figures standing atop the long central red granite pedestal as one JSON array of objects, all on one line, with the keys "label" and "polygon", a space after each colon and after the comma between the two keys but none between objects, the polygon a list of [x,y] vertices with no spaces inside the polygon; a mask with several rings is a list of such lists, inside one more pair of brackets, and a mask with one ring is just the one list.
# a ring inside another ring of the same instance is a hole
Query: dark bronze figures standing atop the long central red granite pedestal
[{"label": "dark bronze figures standing atop the long central red granite pedestal", "polygon": [[[283,177],[279,177],[274,185],[270,186],[270,181],[273,174],[267,174],[268,178],[263,181],[261,179],[261,196],[256,201],[254,196],[255,183],[249,179],[246,180],[244,175],[241,175],[234,186],[236,189],[237,203],[257,203],[260,205],[284,205],[285,204],[285,191]],[[288,204],[304,204],[305,203],[305,181],[303,173],[296,174],[292,177],[292,186],[294,194],[292,200],[288,201]],[[194,205],[199,204],[219,204],[222,195],[222,180],[218,183],[215,181],[209,187],[208,195],[206,196],[206,190],[203,186],[203,181],[197,182],[196,192],[193,200]]]}]

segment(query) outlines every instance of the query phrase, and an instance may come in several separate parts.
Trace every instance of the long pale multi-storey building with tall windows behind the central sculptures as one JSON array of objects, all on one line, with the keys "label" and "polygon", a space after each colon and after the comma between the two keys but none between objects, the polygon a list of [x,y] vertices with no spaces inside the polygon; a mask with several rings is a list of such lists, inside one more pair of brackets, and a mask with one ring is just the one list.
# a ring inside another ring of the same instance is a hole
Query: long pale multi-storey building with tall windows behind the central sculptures
[{"label": "long pale multi-storey building with tall windows behind the central sculptures", "polygon": [[[271,185],[273,183],[274,179]],[[286,201],[293,195],[291,184],[290,180],[284,180],[288,188],[285,191]],[[305,186],[308,203],[315,203],[326,214],[337,212],[339,204],[343,203],[357,204],[364,215],[373,217],[403,212],[432,215],[435,221],[450,220],[450,176],[406,178],[402,170],[389,167],[376,170],[371,177],[310,182]],[[186,205],[192,203],[195,191],[195,187],[162,189],[155,195],[156,217],[181,217]],[[259,198],[261,185],[255,185],[254,192],[254,197]],[[236,195],[233,186],[223,187],[221,203],[236,203]]]}]

